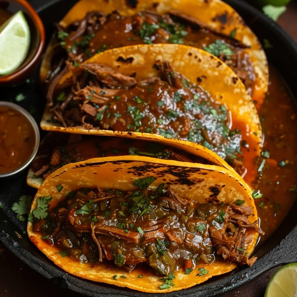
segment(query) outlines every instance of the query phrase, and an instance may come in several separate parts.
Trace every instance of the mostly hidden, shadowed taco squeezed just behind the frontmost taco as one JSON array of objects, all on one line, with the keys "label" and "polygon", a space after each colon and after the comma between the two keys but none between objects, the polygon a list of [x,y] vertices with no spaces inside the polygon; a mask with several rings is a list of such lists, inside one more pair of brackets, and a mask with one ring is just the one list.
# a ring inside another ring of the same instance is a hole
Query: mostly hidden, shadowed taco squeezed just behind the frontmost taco
[{"label": "mostly hidden, shadowed taco squeezed just behind the frontmost taco", "polygon": [[[42,140],[27,175],[27,184],[38,189],[51,173],[62,166],[87,159],[110,156],[147,156],[164,160],[217,165],[233,171],[217,154],[198,144],[173,139],[146,140],[50,132]],[[246,172],[244,165],[235,168]]]}]

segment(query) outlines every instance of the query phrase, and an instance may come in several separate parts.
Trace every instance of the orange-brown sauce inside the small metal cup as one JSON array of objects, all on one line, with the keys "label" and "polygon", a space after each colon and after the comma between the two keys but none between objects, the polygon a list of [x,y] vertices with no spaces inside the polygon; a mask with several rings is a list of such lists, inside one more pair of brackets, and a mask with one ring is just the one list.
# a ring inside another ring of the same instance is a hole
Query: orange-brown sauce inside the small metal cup
[{"label": "orange-brown sauce inside the small metal cup", "polygon": [[35,133],[29,120],[11,107],[0,106],[0,174],[23,165],[34,146]]}]

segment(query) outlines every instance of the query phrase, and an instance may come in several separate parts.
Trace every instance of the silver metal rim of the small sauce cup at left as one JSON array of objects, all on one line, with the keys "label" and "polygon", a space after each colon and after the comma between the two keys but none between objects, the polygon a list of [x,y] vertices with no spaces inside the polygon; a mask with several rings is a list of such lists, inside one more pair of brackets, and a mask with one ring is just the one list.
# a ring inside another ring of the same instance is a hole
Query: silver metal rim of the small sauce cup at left
[{"label": "silver metal rim of the small sauce cup at left", "polygon": [[35,143],[34,143],[34,149],[33,152],[31,154],[31,156],[28,158],[28,160],[22,164],[20,167],[16,168],[15,170],[9,171],[7,173],[0,173],[0,178],[4,178],[4,177],[10,177],[13,176],[21,171],[23,171],[26,167],[28,167],[31,162],[33,161],[34,157],[37,154],[37,151],[39,149],[39,144],[40,144],[40,132],[39,132],[39,127],[36,123],[36,121],[34,120],[33,116],[31,116],[31,114],[25,110],[24,108],[22,108],[21,106],[12,103],[12,102],[7,102],[7,101],[0,101],[0,106],[7,106],[10,107],[14,110],[17,110],[18,112],[20,112],[23,116],[26,117],[26,119],[29,121],[29,123],[31,124],[31,126],[34,129],[34,135],[35,135]]}]

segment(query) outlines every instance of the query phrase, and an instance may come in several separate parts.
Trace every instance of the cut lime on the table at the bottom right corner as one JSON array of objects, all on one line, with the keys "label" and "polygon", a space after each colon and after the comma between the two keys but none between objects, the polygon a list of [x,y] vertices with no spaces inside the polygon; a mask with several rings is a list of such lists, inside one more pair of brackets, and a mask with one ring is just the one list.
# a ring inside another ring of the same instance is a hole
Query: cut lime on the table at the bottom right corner
[{"label": "cut lime on the table at the bottom right corner", "polygon": [[297,296],[297,263],[279,268],[269,281],[264,297]]}]

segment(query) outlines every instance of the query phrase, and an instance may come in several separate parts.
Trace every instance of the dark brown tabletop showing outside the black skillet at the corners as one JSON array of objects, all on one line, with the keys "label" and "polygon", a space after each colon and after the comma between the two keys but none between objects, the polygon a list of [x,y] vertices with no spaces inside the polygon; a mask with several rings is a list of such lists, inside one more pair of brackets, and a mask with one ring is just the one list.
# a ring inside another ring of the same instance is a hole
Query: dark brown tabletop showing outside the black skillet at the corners
[{"label": "dark brown tabletop showing outside the black skillet at the corners", "polygon": [[[297,41],[297,0],[293,0],[278,23]],[[263,274],[240,288],[221,297],[261,297],[269,279],[277,268]],[[82,297],[83,295],[61,289],[38,274],[0,244],[0,296],[1,297]]]}]

